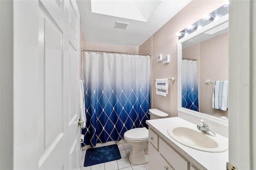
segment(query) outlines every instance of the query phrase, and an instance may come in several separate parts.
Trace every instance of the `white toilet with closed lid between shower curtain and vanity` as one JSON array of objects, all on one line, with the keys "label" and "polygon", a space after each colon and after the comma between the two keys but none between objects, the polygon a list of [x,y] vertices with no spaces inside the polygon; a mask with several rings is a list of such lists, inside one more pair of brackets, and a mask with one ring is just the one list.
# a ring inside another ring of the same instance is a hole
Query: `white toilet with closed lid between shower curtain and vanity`
[{"label": "white toilet with closed lid between shower curtain and vanity", "polygon": [[[149,109],[150,119],[160,119],[168,117],[167,113],[164,113],[158,109]],[[132,164],[144,164],[148,162],[145,157],[145,150],[148,148],[148,129],[133,128],[124,133],[124,140],[131,146],[129,160]]]}]

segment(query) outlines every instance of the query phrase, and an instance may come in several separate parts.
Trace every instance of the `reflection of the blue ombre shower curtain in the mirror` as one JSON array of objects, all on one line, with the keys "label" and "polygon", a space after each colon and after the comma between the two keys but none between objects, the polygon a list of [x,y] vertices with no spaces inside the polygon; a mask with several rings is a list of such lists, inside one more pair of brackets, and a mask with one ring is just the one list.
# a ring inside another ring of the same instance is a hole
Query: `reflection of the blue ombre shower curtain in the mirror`
[{"label": "reflection of the blue ombre shower curtain in the mirror", "polygon": [[197,61],[182,60],[182,107],[199,111]]}]

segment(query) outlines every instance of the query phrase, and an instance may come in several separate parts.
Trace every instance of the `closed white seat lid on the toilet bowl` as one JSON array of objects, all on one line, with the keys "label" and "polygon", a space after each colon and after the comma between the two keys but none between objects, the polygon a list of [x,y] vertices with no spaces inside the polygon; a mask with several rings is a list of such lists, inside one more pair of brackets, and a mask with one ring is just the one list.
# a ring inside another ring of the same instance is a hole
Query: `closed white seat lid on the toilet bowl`
[{"label": "closed white seat lid on the toilet bowl", "polygon": [[124,137],[128,140],[146,140],[148,139],[148,129],[143,128],[133,128],[124,133]]}]

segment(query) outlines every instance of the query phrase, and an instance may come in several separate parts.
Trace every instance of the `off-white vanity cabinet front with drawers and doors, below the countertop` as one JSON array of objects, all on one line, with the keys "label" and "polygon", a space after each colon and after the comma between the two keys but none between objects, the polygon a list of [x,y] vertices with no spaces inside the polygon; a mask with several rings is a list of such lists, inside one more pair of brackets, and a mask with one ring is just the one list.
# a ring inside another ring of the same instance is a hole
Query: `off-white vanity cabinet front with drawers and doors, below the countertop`
[{"label": "off-white vanity cabinet front with drawers and doors, below the countertop", "polygon": [[148,137],[149,170],[197,170],[152,128],[149,128]]}]

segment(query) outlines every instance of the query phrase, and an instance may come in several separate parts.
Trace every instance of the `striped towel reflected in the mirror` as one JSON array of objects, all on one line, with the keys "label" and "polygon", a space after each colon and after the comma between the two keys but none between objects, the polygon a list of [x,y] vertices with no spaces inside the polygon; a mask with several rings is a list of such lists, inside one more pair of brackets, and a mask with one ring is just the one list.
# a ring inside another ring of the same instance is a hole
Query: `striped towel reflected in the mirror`
[{"label": "striped towel reflected in the mirror", "polygon": [[214,81],[212,93],[212,109],[227,111],[228,81]]}]

